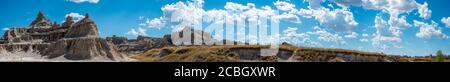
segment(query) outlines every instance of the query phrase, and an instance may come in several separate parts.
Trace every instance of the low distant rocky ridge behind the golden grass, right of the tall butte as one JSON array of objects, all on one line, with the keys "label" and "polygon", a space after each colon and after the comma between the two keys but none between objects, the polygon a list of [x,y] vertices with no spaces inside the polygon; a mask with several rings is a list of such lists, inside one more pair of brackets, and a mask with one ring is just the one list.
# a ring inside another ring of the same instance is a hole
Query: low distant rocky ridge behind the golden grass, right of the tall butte
[{"label": "low distant rocky ridge behind the golden grass, right of the tall butte", "polygon": [[[188,36],[184,36],[184,32]],[[177,35],[177,36],[175,36]],[[174,37],[178,37],[178,40],[173,40]],[[188,37],[189,39],[183,39]],[[199,38],[198,38],[199,37]],[[164,35],[162,38],[147,37],[147,36],[137,36],[136,39],[128,40],[125,37],[107,37],[108,41],[114,43],[119,48],[120,52],[144,52],[153,48],[163,48],[172,46],[189,46],[194,45],[194,41],[199,41],[200,45],[205,45],[206,42],[215,42],[219,40],[214,40],[211,34],[203,32],[201,30],[192,29],[190,27],[185,27],[180,31],[173,32],[171,34]],[[195,40],[197,39],[197,40]],[[175,45],[173,42],[187,42],[187,44]]]}]

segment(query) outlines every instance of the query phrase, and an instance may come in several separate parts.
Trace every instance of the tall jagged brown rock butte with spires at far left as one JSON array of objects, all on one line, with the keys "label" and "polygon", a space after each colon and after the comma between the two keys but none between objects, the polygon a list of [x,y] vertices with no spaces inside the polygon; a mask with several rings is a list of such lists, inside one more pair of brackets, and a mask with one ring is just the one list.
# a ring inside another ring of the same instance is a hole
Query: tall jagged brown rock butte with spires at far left
[{"label": "tall jagged brown rock butte with spires at far left", "polygon": [[2,51],[32,50],[49,59],[121,61],[124,58],[112,43],[99,37],[95,22],[87,14],[76,23],[67,17],[60,26],[50,24],[39,12],[29,27],[6,31],[2,41]]}]

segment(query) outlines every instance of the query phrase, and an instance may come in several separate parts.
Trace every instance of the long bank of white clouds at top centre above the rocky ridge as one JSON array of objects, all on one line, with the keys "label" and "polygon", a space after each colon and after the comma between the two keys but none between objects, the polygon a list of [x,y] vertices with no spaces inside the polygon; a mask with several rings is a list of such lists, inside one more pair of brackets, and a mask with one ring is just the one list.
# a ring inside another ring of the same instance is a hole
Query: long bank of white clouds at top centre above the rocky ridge
[{"label": "long bank of white clouds at top centre above the rocky ridge", "polygon": [[[259,17],[271,17],[276,22],[286,21],[292,23],[301,23],[299,17],[295,13],[297,10],[295,5],[277,1],[274,5],[277,9],[285,10],[282,14],[278,14],[270,6],[265,5],[257,8],[254,3],[239,4],[234,2],[225,3],[224,9],[204,10],[202,0],[179,1],[173,4],[167,4],[161,8],[163,16],[146,20],[140,26],[150,28],[172,27],[174,31],[180,30],[186,26],[195,27],[204,23],[224,23],[225,20],[233,21],[257,22]],[[289,12],[286,12],[288,11]]]}]

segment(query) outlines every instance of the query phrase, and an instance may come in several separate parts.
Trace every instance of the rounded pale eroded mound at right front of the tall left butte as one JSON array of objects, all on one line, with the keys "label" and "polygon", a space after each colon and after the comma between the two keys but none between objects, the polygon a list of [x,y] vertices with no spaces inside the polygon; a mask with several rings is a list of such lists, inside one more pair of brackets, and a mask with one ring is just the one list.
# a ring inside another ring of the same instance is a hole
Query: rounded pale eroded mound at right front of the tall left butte
[{"label": "rounded pale eroded mound at right front of the tall left butte", "polygon": [[93,37],[58,40],[48,45],[48,48],[42,54],[49,58],[64,57],[69,60],[123,59],[123,56],[117,52],[117,49],[111,43]]}]

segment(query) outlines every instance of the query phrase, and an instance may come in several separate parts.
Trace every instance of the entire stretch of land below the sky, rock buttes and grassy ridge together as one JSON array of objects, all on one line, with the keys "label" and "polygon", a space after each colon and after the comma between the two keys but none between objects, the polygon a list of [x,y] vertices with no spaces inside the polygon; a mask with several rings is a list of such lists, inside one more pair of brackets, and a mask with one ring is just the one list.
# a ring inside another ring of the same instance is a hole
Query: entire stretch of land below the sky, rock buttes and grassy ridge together
[{"label": "entire stretch of land below the sky, rock buttes and grassy ridge together", "polygon": [[[26,27],[10,28],[0,39],[0,61],[42,62],[415,62],[431,58],[413,58],[383,53],[347,49],[312,48],[283,43],[277,53],[262,55],[267,45],[192,45],[176,46],[172,35],[182,36],[191,30],[191,36],[207,36],[206,32],[189,27],[162,38],[138,36],[127,39],[120,36],[101,38],[97,25],[86,14],[75,22],[66,17],[62,24],[51,22],[42,12]],[[193,39],[191,39],[193,41]],[[225,40],[223,40],[225,41]],[[226,41],[225,41],[226,42]],[[238,42],[234,42],[238,44]],[[203,43],[204,44],[204,43]]]}]

